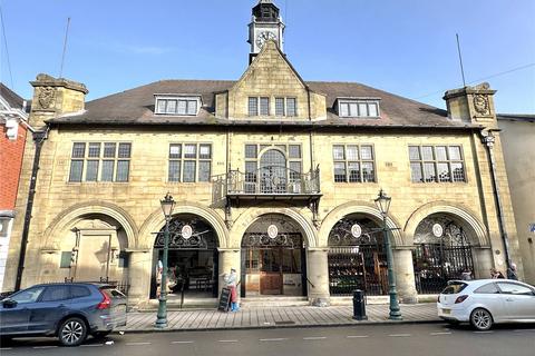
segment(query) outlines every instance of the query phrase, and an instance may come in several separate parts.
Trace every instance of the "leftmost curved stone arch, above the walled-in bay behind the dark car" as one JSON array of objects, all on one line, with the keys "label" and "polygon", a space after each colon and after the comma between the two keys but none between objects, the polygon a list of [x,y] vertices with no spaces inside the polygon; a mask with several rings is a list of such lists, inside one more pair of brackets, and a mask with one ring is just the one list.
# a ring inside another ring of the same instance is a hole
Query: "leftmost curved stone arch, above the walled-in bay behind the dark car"
[{"label": "leftmost curved stone arch, above the walled-in bay behind the dark car", "polygon": [[108,201],[91,200],[76,204],[61,211],[45,230],[43,247],[55,249],[60,244],[61,231],[64,231],[76,219],[91,214],[106,215],[115,219],[125,229],[128,247],[132,248],[137,245],[137,226],[126,210]]}]

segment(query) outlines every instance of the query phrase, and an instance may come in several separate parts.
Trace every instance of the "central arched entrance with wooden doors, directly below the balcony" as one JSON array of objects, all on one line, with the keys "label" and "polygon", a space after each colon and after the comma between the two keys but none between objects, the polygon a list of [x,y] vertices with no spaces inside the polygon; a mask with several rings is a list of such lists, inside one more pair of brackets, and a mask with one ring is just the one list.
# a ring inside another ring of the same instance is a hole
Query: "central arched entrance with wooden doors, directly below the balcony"
[{"label": "central arched entrance with wooden doors, directly below the balcony", "polygon": [[242,238],[242,297],[305,296],[303,236],[295,221],[280,214],[261,216]]}]

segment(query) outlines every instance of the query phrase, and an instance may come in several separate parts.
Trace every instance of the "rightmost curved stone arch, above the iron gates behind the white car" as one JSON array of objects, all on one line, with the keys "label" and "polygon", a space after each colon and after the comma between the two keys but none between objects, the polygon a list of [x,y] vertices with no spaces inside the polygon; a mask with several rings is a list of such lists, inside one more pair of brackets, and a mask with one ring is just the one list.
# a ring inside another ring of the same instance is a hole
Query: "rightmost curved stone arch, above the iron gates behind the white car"
[{"label": "rightmost curved stone arch, above the iron gates behind the white car", "polygon": [[[488,235],[485,233],[484,225],[476,218],[476,215],[468,210],[465,207],[460,207],[456,204],[449,201],[431,201],[426,205],[422,205],[416,209],[407,220],[403,231],[406,236],[415,236],[416,228],[418,225],[428,216],[432,214],[445,214],[449,215],[454,219],[459,220],[465,225],[465,228],[468,228],[468,237],[470,244],[475,247],[490,247],[490,240]],[[410,244],[414,245],[411,240]]]}]

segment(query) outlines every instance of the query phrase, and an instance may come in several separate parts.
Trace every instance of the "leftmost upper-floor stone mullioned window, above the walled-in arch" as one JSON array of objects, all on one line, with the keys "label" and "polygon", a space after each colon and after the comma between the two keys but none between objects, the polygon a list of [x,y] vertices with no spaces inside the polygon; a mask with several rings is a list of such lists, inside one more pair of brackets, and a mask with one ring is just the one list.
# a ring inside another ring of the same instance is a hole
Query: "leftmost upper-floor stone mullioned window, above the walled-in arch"
[{"label": "leftmost upper-floor stone mullioned window, above the walled-in arch", "polygon": [[69,181],[128,181],[132,144],[74,142]]}]

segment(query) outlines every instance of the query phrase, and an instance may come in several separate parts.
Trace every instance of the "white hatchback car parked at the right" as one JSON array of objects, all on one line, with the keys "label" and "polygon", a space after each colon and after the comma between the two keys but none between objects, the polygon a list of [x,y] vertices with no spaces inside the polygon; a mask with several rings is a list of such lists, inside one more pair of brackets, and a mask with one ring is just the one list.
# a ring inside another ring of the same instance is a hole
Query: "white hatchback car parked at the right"
[{"label": "white hatchback car parked at the right", "polygon": [[535,323],[535,287],[510,279],[451,280],[437,301],[438,316],[478,330],[498,323]]}]

